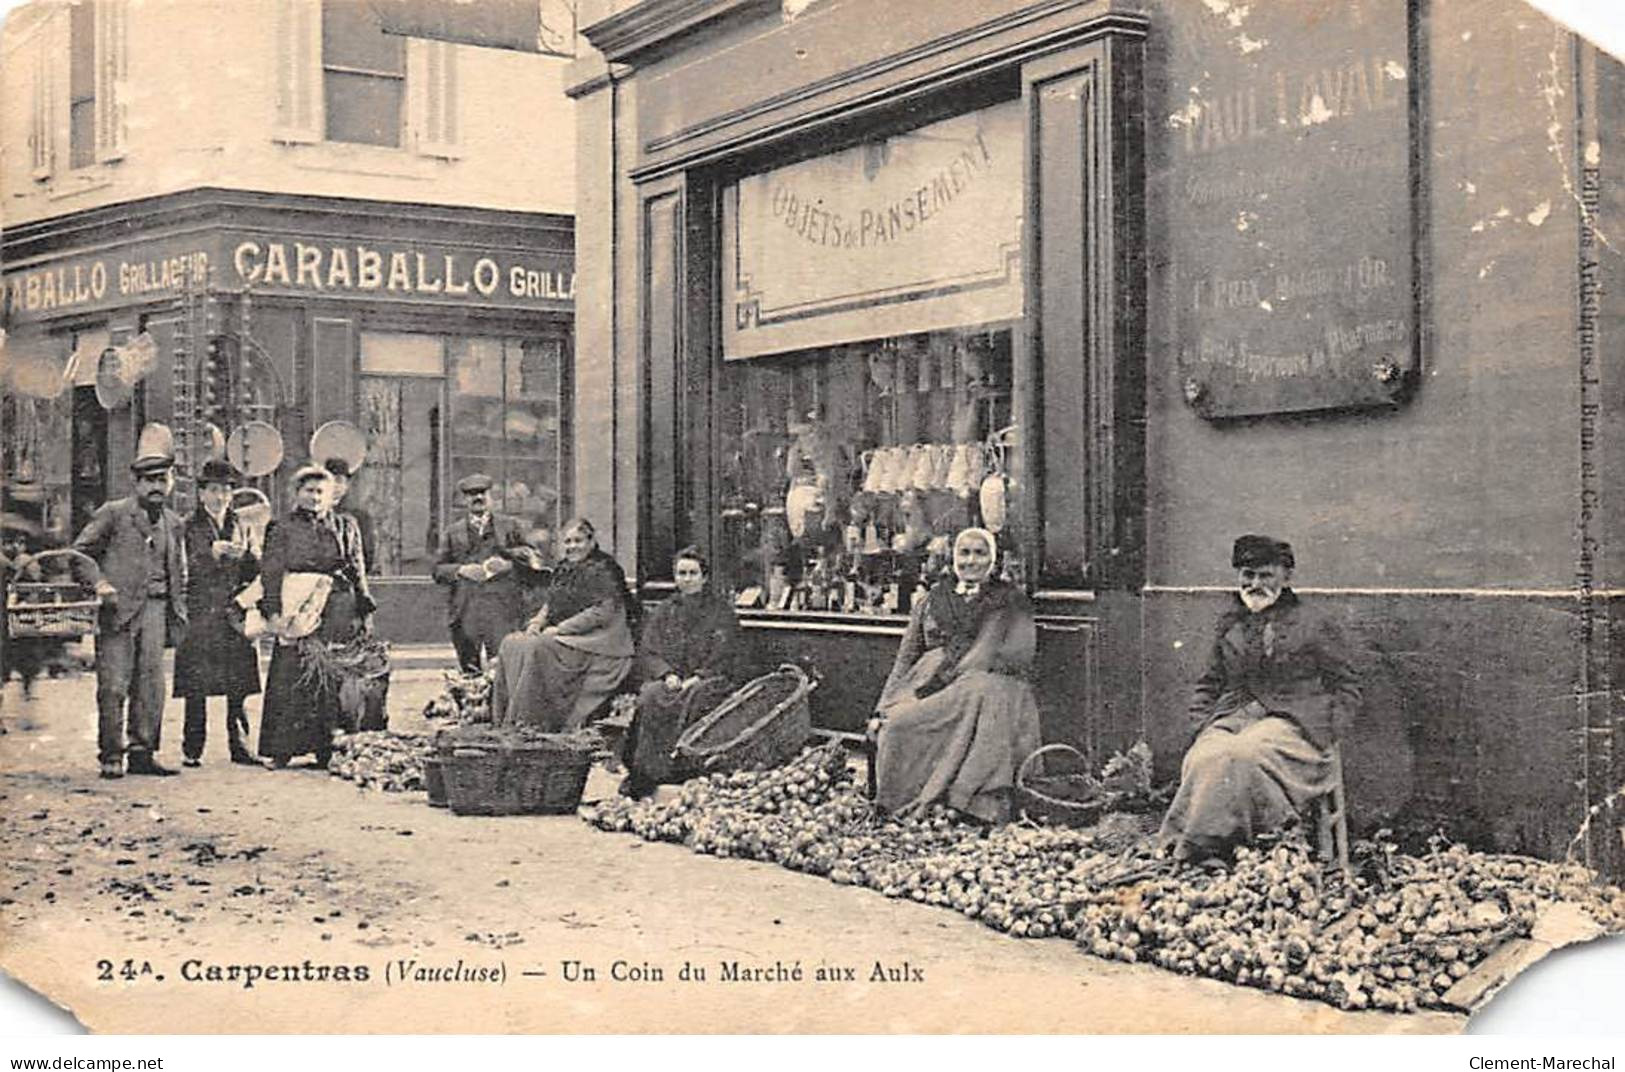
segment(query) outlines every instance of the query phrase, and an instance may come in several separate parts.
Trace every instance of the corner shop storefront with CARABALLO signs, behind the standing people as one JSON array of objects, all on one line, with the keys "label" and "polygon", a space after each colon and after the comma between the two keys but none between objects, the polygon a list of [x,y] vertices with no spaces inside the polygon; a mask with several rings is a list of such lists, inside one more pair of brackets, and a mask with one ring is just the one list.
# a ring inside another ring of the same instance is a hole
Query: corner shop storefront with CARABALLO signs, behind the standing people
[{"label": "corner shop storefront with CARABALLO signs, behind the standing people", "polygon": [[[125,491],[146,421],[193,456],[275,429],[257,484],[278,510],[312,432],[348,421],[380,629],[440,642],[457,481],[491,474],[526,526],[569,513],[569,218],[195,192],[10,229],[5,265],[5,479],[42,489],[60,536]],[[98,393],[102,352],[143,333],[150,361]]]}]

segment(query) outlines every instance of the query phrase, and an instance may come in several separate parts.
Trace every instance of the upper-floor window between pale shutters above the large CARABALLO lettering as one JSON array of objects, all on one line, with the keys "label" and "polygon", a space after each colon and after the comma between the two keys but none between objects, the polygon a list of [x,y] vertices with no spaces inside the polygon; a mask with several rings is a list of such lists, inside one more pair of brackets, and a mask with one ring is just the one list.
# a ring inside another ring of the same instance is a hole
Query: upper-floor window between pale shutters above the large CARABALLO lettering
[{"label": "upper-floor window between pale shutters above the large CARABALLO lettering", "polygon": [[328,141],[401,145],[406,42],[361,0],[322,3],[322,101]]}]

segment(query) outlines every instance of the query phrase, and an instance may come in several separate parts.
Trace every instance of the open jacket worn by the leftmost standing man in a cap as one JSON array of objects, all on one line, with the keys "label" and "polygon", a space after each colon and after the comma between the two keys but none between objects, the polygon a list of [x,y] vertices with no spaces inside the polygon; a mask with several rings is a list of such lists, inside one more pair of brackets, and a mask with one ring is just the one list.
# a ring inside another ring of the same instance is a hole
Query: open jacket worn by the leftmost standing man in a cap
[{"label": "open jacket worn by the leftmost standing man in a cap", "polygon": [[104,629],[128,629],[130,622],[141,612],[141,606],[146,603],[148,539],[158,536],[159,526],[169,536],[167,633],[171,640],[179,640],[185,632],[187,555],[180,515],[164,507],[159,523],[154,525],[133,495],[102,504],[73,541],[75,551],[96,562],[94,570],[80,573],[78,567],[83,564],[76,560],[76,578],[89,585],[107,581],[112,586],[112,599],[102,599],[101,625]]}]

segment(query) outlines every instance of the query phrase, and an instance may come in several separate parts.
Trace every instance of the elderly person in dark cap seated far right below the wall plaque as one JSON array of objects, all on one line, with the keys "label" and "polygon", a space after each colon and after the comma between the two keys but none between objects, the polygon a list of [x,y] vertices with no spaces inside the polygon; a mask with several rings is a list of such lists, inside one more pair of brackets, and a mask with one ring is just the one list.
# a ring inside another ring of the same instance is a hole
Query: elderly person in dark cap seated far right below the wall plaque
[{"label": "elderly person in dark cap seated far right below the wall plaque", "polygon": [[1329,793],[1331,749],[1360,705],[1342,633],[1289,586],[1292,546],[1242,536],[1230,564],[1238,591],[1196,682],[1196,741],[1160,835],[1188,861],[1280,830]]}]

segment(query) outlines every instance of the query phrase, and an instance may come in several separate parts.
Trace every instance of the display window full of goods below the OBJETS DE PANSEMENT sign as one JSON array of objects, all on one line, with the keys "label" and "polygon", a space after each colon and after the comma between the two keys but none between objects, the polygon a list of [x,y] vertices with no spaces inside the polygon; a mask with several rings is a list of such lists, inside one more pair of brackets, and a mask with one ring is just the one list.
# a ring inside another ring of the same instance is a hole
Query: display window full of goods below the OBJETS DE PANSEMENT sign
[{"label": "display window full of goods below the OBJETS DE PANSEMENT sign", "polygon": [[777,609],[900,612],[983,525],[1024,577],[1009,323],[726,362],[718,577]]}]

